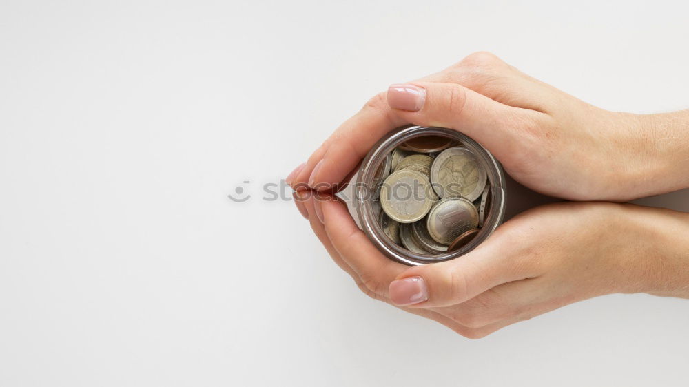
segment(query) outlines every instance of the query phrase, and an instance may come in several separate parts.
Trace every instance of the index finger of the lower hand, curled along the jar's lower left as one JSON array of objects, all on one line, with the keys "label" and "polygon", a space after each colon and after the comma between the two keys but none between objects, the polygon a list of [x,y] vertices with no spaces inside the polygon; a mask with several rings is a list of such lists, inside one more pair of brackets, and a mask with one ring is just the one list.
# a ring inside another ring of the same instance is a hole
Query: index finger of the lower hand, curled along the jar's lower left
[{"label": "index finger of the lower hand, curled along the jar's lower left", "polygon": [[320,205],[325,231],[336,251],[359,275],[370,292],[388,297],[389,284],[408,266],[386,258],[371,244],[363,231],[356,227],[345,205],[330,197]]}]

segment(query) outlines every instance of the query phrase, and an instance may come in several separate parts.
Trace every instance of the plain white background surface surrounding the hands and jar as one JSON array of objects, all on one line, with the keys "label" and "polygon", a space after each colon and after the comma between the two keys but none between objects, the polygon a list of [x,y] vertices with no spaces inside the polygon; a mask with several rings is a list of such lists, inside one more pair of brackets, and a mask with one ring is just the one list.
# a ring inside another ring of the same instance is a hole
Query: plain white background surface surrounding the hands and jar
[{"label": "plain white background surface surrounding the hands and jar", "polygon": [[477,50],[606,109],[686,107],[687,10],[1,1],[0,386],[686,386],[686,300],[472,341],[364,296],[260,198],[369,96]]}]

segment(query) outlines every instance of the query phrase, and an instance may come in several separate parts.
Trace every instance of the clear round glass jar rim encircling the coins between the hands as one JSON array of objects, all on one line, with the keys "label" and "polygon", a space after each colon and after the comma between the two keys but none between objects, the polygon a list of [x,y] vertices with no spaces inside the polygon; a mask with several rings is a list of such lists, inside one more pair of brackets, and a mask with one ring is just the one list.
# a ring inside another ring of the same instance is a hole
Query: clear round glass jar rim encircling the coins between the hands
[{"label": "clear round glass jar rim encircling the coins between the hands", "polygon": [[[389,168],[389,155],[393,149],[406,143],[412,138],[424,136],[440,136],[450,138],[461,144],[461,147],[469,149],[486,173],[486,185],[488,199],[491,203],[484,213],[484,220],[480,231],[473,239],[463,247],[445,253],[415,253],[393,242],[384,233],[380,221],[380,204],[376,198],[376,186],[380,184],[380,169]],[[407,126],[394,129],[373,145],[367,156],[362,160],[358,170],[347,186],[338,193],[338,196],[347,202],[347,207],[352,218],[366,236],[384,255],[391,260],[408,265],[420,265],[433,262],[452,260],[475,249],[486,238],[491,236],[495,228],[502,223],[505,213],[506,191],[505,174],[500,163],[493,158],[484,147],[474,140],[453,129],[440,127]]]}]

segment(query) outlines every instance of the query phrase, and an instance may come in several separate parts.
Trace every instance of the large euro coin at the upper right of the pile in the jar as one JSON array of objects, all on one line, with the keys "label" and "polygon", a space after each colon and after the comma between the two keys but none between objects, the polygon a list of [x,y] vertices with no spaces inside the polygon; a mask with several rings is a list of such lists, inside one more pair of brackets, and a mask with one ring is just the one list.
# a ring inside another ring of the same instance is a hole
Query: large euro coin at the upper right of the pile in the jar
[{"label": "large euro coin at the upper right of the pile in the jar", "polygon": [[445,149],[431,165],[433,189],[441,198],[476,200],[483,192],[487,178],[475,154],[463,147]]}]

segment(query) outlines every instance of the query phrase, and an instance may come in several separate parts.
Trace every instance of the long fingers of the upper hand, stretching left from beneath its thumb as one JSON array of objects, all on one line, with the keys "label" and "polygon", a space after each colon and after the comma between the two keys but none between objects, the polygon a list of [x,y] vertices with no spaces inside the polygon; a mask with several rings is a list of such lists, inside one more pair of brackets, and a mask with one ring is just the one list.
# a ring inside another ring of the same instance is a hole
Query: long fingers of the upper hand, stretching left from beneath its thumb
[{"label": "long fingers of the upper hand, stretching left from beneath its thumb", "polygon": [[385,93],[376,95],[360,112],[340,125],[296,176],[289,179],[290,185],[329,189],[356,167],[378,139],[391,129],[404,125],[403,118],[392,114],[386,98]]}]

